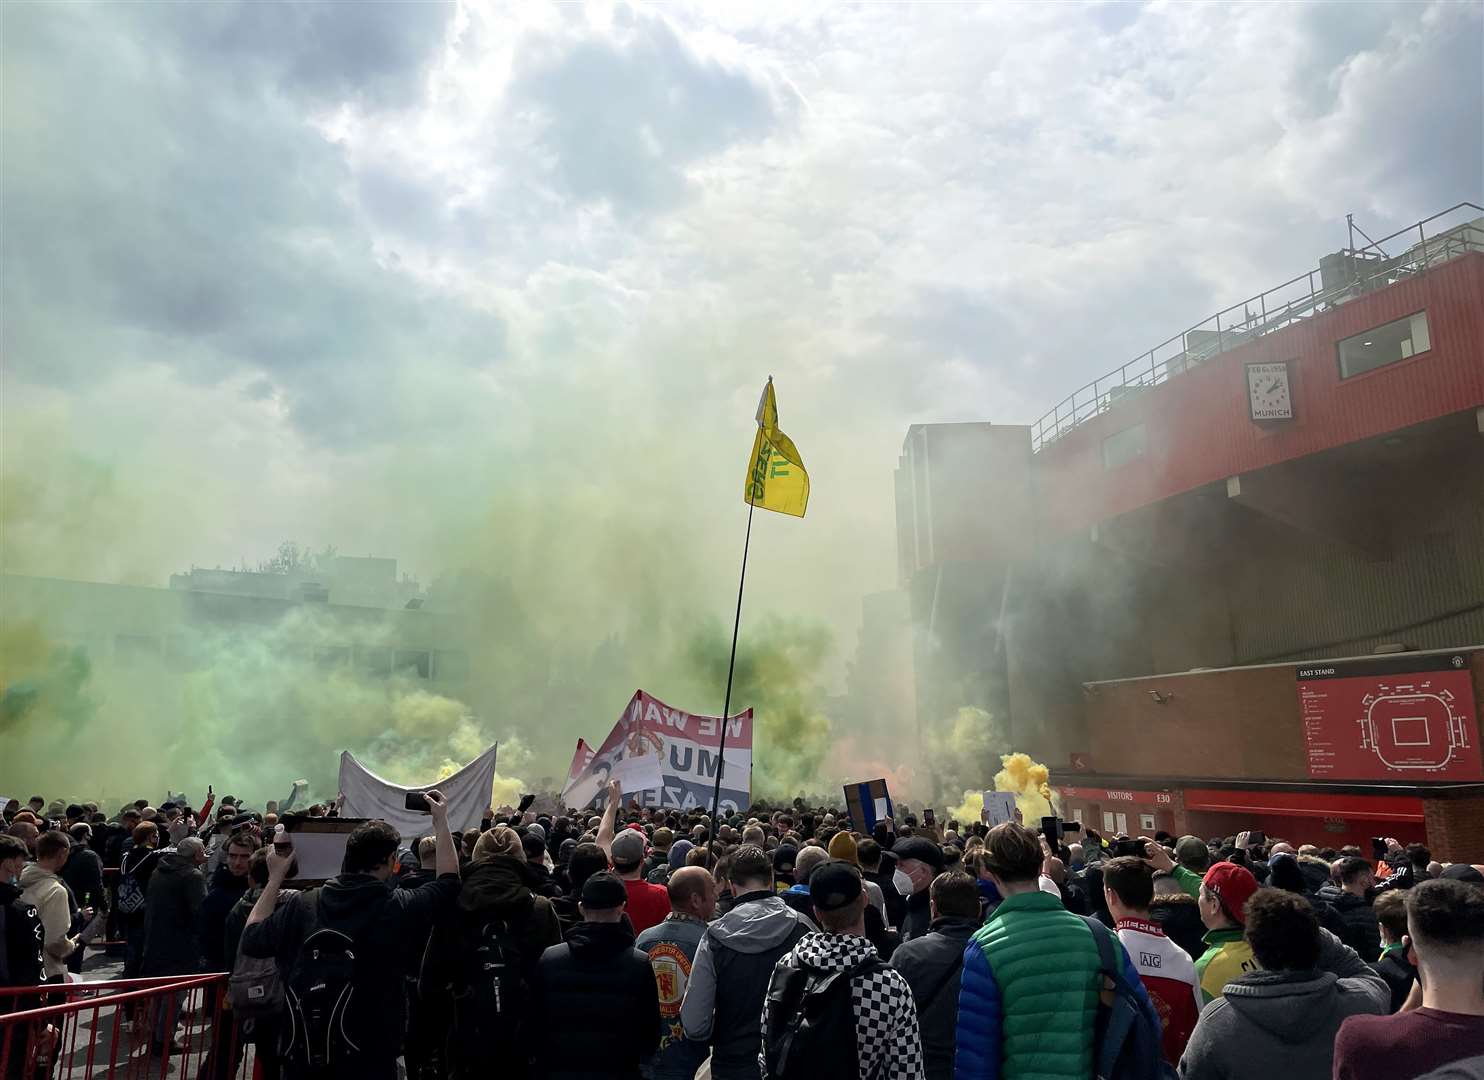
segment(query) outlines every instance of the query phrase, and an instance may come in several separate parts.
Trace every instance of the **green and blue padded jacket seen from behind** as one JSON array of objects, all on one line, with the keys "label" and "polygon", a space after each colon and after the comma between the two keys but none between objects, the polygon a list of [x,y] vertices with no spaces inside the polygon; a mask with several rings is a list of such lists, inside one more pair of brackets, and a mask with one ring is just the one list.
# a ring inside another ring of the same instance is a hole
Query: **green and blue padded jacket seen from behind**
[{"label": "green and blue padded jacket seen from behind", "polygon": [[[963,951],[954,1080],[1092,1076],[1101,979],[1092,933],[1051,893],[1000,902]],[[1120,978],[1147,1003],[1128,952],[1113,944]]]}]

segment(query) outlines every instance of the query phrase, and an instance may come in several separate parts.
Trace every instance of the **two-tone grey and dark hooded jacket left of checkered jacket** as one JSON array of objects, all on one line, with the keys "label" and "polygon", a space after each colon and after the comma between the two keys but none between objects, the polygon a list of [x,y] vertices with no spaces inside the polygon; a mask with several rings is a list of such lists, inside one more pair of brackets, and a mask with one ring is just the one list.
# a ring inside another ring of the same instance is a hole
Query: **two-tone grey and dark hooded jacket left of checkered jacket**
[{"label": "two-tone grey and dark hooded jacket left of checkered jacket", "polygon": [[687,1038],[712,1044],[711,1076],[758,1076],[763,997],[773,966],[815,924],[773,893],[743,893],[706,927],[686,985],[680,1022]]}]

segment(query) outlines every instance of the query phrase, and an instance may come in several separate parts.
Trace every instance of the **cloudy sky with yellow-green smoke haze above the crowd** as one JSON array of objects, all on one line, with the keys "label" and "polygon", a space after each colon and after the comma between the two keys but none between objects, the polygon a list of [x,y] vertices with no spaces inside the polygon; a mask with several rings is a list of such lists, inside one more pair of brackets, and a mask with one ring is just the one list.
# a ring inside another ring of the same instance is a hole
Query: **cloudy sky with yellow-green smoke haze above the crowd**
[{"label": "cloudy sky with yellow-green smoke haze above the crowd", "polygon": [[757,602],[846,632],[908,424],[1480,200],[1481,10],[10,0],[6,568],[726,610],[772,374],[815,501]]}]

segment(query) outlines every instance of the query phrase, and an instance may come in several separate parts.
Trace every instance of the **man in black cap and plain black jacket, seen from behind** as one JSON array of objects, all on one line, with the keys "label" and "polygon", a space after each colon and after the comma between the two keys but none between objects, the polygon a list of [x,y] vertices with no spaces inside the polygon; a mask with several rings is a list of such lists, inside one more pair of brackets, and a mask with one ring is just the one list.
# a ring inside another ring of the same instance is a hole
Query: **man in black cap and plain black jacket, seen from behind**
[{"label": "man in black cap and plain black jacket, seen from behind", "polygon": [[[537,966],[537,1073],[546,1080],[637,1080],[659,1049],[659,991],[623,920],[628,892],[613,874],[582,884],[582,923]],[[760,1013],[761,1015],[761,1013]]]}]

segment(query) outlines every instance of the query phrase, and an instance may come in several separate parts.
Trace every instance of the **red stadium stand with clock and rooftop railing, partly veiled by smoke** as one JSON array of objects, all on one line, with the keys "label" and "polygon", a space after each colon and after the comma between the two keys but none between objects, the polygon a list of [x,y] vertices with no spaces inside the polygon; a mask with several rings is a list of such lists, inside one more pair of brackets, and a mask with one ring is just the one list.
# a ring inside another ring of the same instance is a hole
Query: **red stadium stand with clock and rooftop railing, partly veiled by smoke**
[{"label": "red stadium stand with clock and rooftop railing, partly veiled by smoke", "polygon": [[1033,426],[914,426],[919,717],[1005,717],[1107,831],[1480,857],[1480,214],[1328,255]]}]

